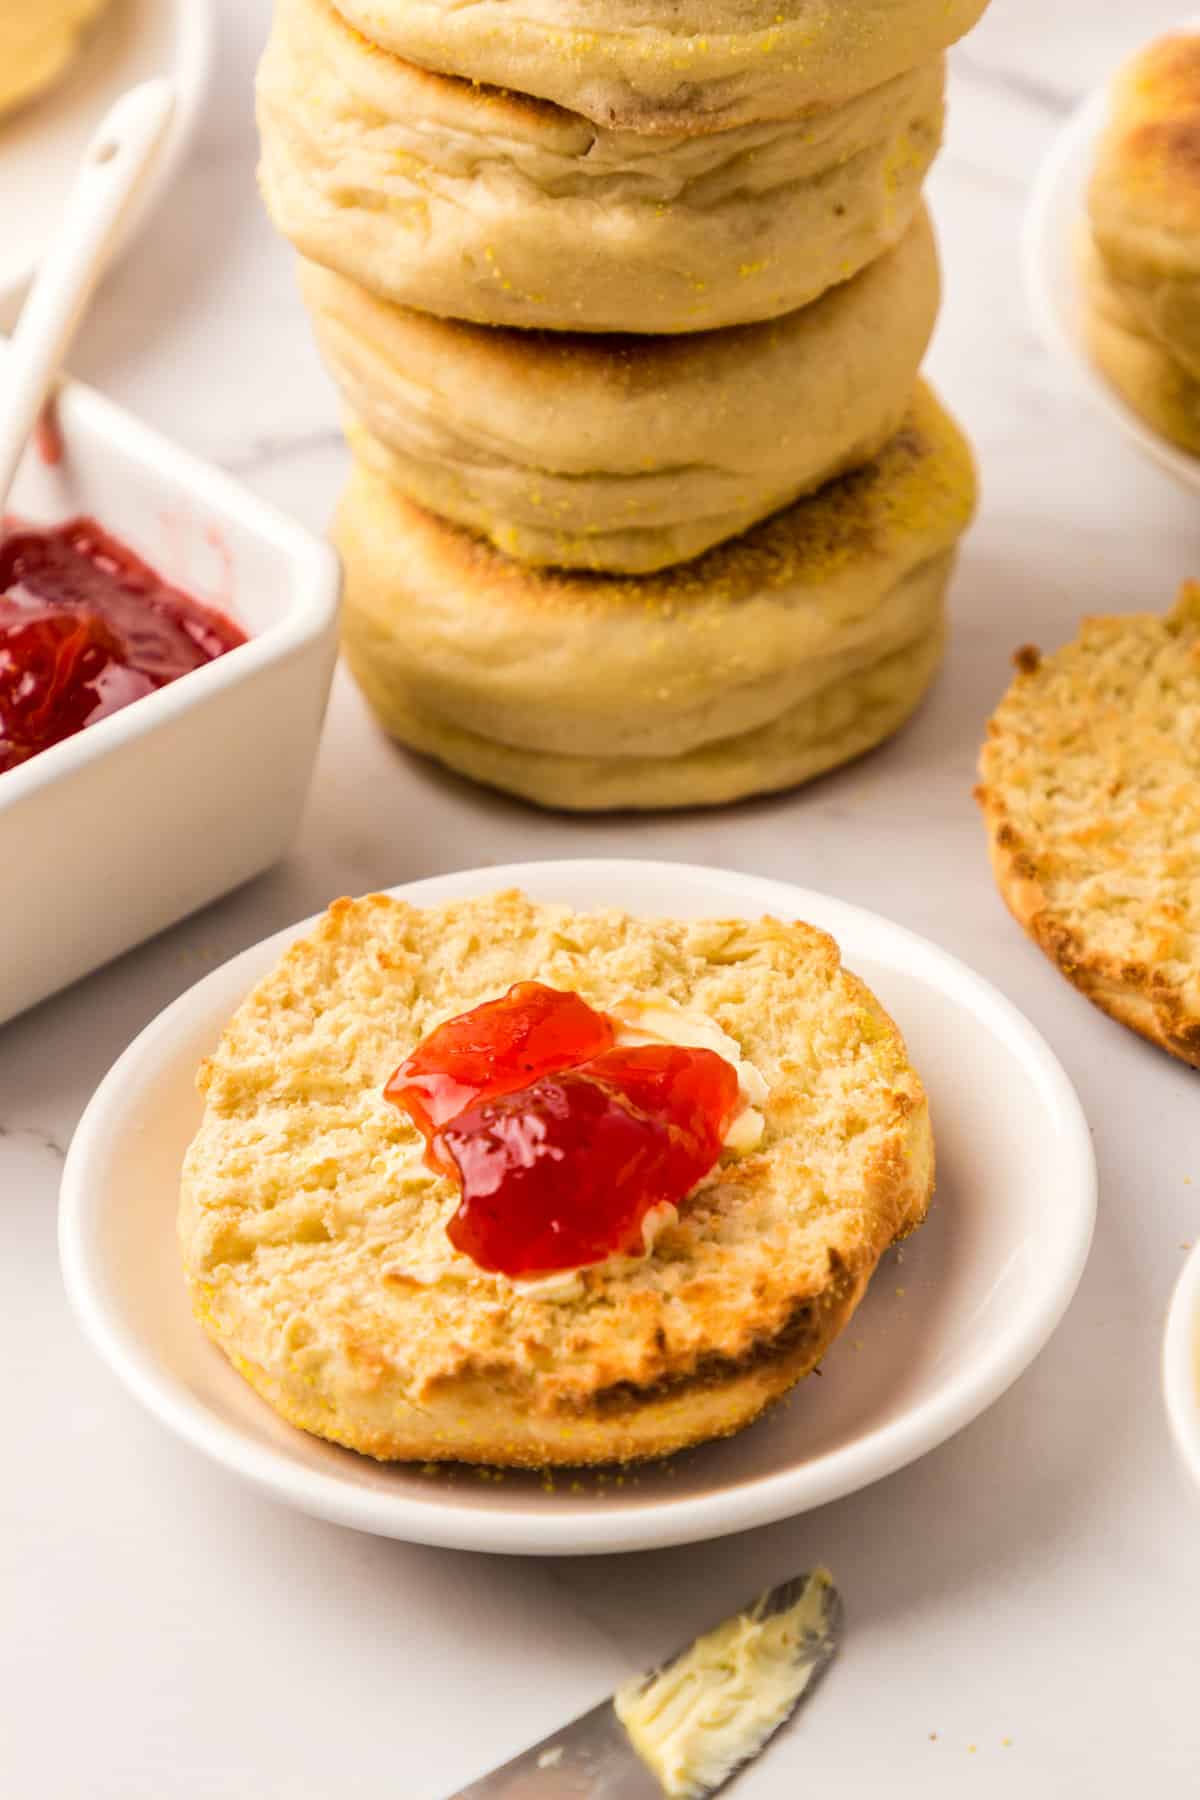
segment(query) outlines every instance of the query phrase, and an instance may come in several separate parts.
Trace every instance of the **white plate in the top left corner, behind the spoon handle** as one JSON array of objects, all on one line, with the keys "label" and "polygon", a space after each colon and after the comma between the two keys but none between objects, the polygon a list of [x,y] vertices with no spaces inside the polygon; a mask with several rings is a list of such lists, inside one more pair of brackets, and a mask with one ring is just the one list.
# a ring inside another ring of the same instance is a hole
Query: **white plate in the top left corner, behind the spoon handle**
[{"label": "white plate in the top left corner, behind the spoon handle", "polygon": [[212,0],[112,0],[58,86],[0,119],[0,311],[9,313],[54,234],[92,131],[126,88],[176,86],[175,119],[126,227],[166,193],[187,149],[212,63]]}]

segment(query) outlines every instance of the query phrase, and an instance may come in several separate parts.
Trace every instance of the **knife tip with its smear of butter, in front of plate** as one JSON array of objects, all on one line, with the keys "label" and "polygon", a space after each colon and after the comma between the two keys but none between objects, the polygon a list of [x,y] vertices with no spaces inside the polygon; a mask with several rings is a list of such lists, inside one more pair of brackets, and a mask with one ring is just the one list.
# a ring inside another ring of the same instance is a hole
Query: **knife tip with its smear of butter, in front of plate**
[{"label": "knife tip with its smear of butter, in front of plate", "polygon": [[[840,1636],[842,1600],[826,1570],[797,1575],[450,1800],[709,1800],[813,1692]],[[721,1692],[716,1759],[714,1715],[702,1723],[709,1678]]]}]

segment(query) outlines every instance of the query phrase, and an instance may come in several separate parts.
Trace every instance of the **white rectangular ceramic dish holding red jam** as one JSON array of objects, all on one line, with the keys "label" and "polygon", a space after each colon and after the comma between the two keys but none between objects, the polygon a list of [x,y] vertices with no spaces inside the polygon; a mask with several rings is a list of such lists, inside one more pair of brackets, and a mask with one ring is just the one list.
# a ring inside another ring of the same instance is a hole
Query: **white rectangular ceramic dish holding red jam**
[{"label": "white rectangular ceramic dish holding red jam", "polygon": [[86,387],[58,419],[11,511],[94,515],[250,641],[0,774],[0,1022],[282,855],[336,655],[320,538]]}]

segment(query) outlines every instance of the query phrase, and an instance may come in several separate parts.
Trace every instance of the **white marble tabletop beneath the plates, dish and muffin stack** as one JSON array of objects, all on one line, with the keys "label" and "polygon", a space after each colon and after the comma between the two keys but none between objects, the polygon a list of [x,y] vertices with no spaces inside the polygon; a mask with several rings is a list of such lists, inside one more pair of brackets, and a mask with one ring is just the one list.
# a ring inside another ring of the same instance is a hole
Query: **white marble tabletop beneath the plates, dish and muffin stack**
[{"label": "white marble tabletop beneath the plates, dish and muffin stack", "polygon": [[[252,182],[266,0],[221,0],[207,126],[106,288],[81,374],[322,522],[333,396]],[[907,736],[811,792],[711,817],[565,823],[385,747],[336,691],[311,808],[273,875],[0,1031],[0,1793],[13,1800],[439,1800],[738,1604],[826,1559],[840,1667],[738,1787],[892,1796],[1193,1795],[1200,1496],[1159,1402],[1159,1337],[1200,1219],[1196,1076],[1110,1026],[993,895],[970,788],[1018,643],[1160,605],[1195,502],[1117,441],[1033,338],[1027,184],[1072,101],[1164,0],[997,0],[955,58],[934,180],[948,302],[932,358],[984,511],[945,680]],[[750,1537],[599,1562],[376,1543],[277,1510],[171,1442],[81,1343],[54,1255],[63,1147],[128,1039],[187,983],[335,893],[471,862],[657,855],[793,877],[957,950],[1045,1031],[1088,1107],[1096,1251],[1033,1372],[901,1476]],[[103,895],[95,895],[103,905]]]}]

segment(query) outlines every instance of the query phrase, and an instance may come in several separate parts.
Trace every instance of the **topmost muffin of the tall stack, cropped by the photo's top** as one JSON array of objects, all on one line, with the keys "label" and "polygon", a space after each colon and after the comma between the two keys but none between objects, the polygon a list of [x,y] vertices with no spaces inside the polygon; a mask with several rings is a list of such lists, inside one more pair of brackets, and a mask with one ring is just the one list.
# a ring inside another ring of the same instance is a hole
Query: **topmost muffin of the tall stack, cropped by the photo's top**
[{"label": "topmost muffin of the tall stack, cropped by the photo's top", "polygon": [[599,126],[675,133],[820,112],[948,49],[986,0],[336,0],[365,38]]}]

